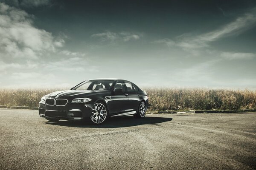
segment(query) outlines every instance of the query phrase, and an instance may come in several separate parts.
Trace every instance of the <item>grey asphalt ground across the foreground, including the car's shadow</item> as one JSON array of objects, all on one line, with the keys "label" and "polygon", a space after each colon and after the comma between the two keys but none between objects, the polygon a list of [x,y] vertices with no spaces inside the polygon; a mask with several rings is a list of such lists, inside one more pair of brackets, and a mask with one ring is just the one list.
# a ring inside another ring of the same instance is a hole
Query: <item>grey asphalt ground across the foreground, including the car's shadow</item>
[{"label": "grey asphalt ground across the foreground, including the car's shadow", "polygon": [[50,123],[0,109],[0,169],[256,169],[256,113]]}]

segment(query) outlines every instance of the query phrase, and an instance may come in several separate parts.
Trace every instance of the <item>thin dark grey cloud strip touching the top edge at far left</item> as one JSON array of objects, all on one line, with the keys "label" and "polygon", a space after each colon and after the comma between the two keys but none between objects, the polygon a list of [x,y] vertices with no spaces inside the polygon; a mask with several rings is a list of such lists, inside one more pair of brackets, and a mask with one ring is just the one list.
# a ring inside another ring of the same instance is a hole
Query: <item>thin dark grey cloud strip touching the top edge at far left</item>
[{"label": "thin dark grey cloud strip touching the top edge at far left", "polygon": [[37,7],[37,6],[44,6],[50,3],[50,0],[1,0],[3,3],[6,3],[10,6],[16,7]]}]

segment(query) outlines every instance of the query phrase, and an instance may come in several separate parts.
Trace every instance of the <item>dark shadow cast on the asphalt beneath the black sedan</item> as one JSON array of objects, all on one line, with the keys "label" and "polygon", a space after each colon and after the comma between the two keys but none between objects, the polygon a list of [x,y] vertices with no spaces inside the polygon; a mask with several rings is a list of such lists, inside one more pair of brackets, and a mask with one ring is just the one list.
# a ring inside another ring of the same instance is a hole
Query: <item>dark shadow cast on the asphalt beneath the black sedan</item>
[{"label": "dark shadow cast on the asphalt beneath the black sedan", "polygon": [[118,116],[111,117],[102,125],[93,125],[89,121],[59,121],[59,122],[45,122],[49,125],[68,126],[68,127],[89,127],[89,128],[118,128],[130,127],[138,125],[155,125],[158,123],[171,121],[172,118],[166,117],[145,117],[143,119],[135,119],[133,116]]}]

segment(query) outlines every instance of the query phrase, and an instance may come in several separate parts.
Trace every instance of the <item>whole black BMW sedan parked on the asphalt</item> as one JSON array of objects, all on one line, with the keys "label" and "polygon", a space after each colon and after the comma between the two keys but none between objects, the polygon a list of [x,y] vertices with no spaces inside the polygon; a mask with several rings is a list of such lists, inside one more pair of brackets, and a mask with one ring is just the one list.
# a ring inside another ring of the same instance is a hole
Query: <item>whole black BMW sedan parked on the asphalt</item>
[{"label": "whole black BMW sedan parked on the asphalt", "polygon": [[60,119],[89,119],[101,124],[110,116],[145,117],[147,94],[132,82],[122,79],[90,79],[67,91],[43,96],[39,115],[51,122]]}]

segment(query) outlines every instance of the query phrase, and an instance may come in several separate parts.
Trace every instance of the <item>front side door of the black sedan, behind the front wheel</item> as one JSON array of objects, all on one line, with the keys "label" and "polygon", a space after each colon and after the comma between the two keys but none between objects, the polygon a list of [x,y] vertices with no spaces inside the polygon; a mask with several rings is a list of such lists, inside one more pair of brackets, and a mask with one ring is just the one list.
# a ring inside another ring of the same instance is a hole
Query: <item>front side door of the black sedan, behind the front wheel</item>
[{"label": "front side door of the black sedan, behind the front wheel", "polygon": [[[115,92],[115,88],[122,88],[122,92]],[[122,80],[119,80],[113,86],[111,91],[111,99],[108,100],[109,114],[122,113],[127,109],[128,95],[125,95],[125,85]]]}]

